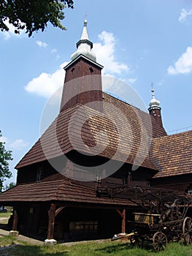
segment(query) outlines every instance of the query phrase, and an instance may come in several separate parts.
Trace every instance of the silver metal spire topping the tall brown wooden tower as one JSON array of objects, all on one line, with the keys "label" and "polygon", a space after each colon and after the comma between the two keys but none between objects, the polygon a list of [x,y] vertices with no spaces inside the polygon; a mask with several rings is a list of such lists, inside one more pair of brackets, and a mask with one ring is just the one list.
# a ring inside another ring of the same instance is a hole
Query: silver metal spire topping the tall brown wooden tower
[{"label": "silver metal spire topping the tall brown wooden tower", "polygon": [[85,19],[80,41],[78,41],[76,44],[77,50],[71,56],[72,61],[78,56],[83,55],[96,62],[96,54],[92,51],[93,42],[88,39],[87,23],[88,20]]}]

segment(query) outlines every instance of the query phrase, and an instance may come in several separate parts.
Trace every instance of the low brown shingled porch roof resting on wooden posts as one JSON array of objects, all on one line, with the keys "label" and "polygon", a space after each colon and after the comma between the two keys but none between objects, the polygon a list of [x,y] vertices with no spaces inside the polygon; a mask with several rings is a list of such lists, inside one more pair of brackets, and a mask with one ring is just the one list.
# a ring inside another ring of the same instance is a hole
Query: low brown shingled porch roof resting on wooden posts
[{"label": "low brown shingled porch roof resting on wooden posts", "polygon": [[134,205],[134,203],[128,200],[97,197],[96,189],[91,189],[90,187],[85,187],[66,180],[42,181],[18,185],[0,194],[1,203],[51,201],[62,202],[66,205],[72,205],[73,203],[91,203],[92,205],[101,204],[108,206]]}]

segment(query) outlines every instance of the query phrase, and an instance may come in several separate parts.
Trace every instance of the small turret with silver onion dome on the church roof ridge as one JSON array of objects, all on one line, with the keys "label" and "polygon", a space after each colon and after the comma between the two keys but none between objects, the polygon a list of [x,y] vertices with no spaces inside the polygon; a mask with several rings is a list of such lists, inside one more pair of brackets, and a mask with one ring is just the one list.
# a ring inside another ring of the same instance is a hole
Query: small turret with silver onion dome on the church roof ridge
[{"label": "small turret with silver onion dome on the church roof ridge", "polygon": [[160,107],[160,101],[158,99],[155,99],[154,89],[151,90],[152,92],[152,99],[150,100],[148,108],[150,116],[153,116],[155,120],[158,122],[158,124],[163,127],[162,119],[161,119],[161,107]]}]

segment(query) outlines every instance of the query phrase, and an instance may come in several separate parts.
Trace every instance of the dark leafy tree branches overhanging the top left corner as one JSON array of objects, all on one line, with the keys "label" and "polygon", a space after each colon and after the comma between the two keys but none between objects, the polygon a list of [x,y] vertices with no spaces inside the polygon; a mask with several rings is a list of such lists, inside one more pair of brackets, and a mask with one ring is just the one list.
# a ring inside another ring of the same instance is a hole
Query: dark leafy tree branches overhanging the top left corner
[{"label": "dark leafy tree branches overhanging the top left corner", "polygon": [[9,31],[6,20],[15,26],[15,34],[26,30],[28,37],[34,31],[45,30],[47,23],[60,29],[66,29],[61,20],[64,20],[64,9],[74,8],[73,0],[0,0],[0,29]]}]

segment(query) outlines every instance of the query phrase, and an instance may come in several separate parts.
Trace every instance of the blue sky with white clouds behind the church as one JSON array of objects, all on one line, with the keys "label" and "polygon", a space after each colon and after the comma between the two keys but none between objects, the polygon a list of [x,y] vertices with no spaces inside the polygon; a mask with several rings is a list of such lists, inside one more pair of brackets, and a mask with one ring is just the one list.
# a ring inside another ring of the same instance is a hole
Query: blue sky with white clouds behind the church
[{"label": "blue sky with white clouds behind the church", "polygon": [[[12,28],[0,32],[0,129],[14,157],[7,183],[15,181],[15,165],[39,138],[43,108],[64,83],[63,67],[76,50],[85,15],[103,75],[123,80],[146,105],[154,83],[166,131],[192,126],[192,1],[74,0],[74,10],[65,13],[67,31],[49,24],[31,38]],[[104,89],[129,100],[125,88]]]}]

